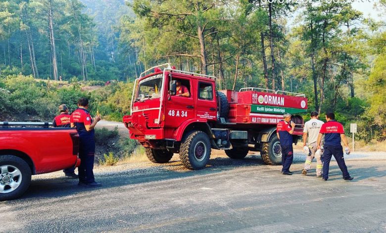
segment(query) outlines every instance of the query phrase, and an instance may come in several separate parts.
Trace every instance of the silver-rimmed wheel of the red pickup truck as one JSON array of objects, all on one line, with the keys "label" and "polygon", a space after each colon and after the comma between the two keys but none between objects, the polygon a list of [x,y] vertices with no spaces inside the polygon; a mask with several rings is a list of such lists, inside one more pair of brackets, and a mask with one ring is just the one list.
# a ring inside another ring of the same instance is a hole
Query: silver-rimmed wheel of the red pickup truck
[{"label": "silver-rimmed wheel of the red pickup truck", "polygon": [[0,156],[0,201],[21,196],[31,183],[31,169],[21,158]]}]

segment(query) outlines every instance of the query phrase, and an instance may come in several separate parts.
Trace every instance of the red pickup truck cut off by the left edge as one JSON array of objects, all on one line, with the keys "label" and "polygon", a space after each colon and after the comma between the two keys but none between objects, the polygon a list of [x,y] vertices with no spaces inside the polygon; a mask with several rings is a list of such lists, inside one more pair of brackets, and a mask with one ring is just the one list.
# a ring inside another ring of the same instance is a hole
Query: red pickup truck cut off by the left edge
[{"label": "red pickup truck cut off by the left edge", "polygon": [[78,167],[79,135],[48,122],[0,122],[0,201],[21,196],[31,175]]}]

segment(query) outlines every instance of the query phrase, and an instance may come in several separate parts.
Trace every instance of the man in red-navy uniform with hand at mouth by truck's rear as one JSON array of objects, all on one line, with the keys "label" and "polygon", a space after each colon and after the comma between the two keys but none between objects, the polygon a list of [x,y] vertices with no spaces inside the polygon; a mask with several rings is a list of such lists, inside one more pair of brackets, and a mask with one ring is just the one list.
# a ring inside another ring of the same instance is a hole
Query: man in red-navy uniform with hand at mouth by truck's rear
[{"label": "man in red-navy uniform with hand at mouth by truck's rear", "polygon": [[291,115],[285,113],[276,128],[276,134],[280,140],[280,147],[282,149],[282,174],[292,175],[290,172],[290,166],[293,161],[293,148],[292,148],[292,133],[295,128],[295,123],[291,122]]}]

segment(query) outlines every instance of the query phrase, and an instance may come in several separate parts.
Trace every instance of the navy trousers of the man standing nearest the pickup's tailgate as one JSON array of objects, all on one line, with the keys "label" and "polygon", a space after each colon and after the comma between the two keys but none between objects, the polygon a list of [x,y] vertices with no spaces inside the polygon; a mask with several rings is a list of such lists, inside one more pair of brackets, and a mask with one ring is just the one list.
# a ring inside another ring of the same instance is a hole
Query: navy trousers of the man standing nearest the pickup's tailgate
[{"label": "navy trousers of the man standing nearest the pickup's tailgate", "polygon": [[79,182],[92,183],[94,178],[95,140],[93,137],[79,137],[79,158],[81,164],[78,168]]}]

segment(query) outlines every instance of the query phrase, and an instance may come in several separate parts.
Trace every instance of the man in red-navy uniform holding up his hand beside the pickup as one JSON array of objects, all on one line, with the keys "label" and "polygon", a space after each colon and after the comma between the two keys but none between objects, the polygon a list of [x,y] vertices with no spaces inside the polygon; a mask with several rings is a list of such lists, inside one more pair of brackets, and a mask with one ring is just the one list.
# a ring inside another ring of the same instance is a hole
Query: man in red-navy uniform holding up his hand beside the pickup
[{"label": "man in red-navy uniform holding up his hand beside the pickup", "polygon": [[79,185],[97,187],[101,183],[95,181],[94,178],[94,159],[95,159],[95,130],[94,127],[100,120],[100,116],[95,117],[95,120],[87,111],[89,108],[89,100],[80,98],[78,100],[78,108],[71,115],[71,126],[76,127],[79,133],[79,158],[81,164],[78,167]]}]

